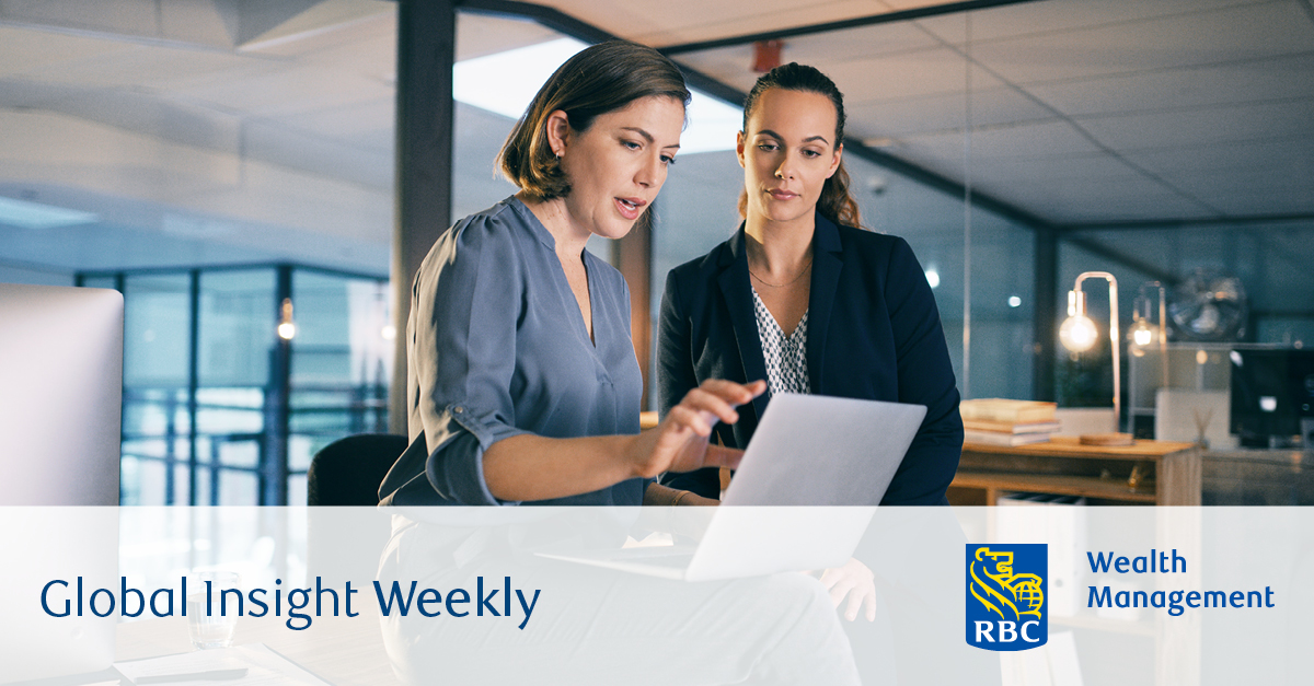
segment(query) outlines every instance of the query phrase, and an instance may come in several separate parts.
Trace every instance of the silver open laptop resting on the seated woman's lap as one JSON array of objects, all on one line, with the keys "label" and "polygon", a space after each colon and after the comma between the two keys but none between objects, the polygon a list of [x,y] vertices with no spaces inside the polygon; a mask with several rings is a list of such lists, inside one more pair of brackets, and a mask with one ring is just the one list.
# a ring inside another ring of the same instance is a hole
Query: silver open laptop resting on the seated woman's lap
[{"label": "silver open laptop resting on the seated woman's lap", "polygon": [[707,518],[696,547],[539,555],[685,581],[842,565],[925,415],[921,405],[777,394],[721,506],[682,509]]}]

